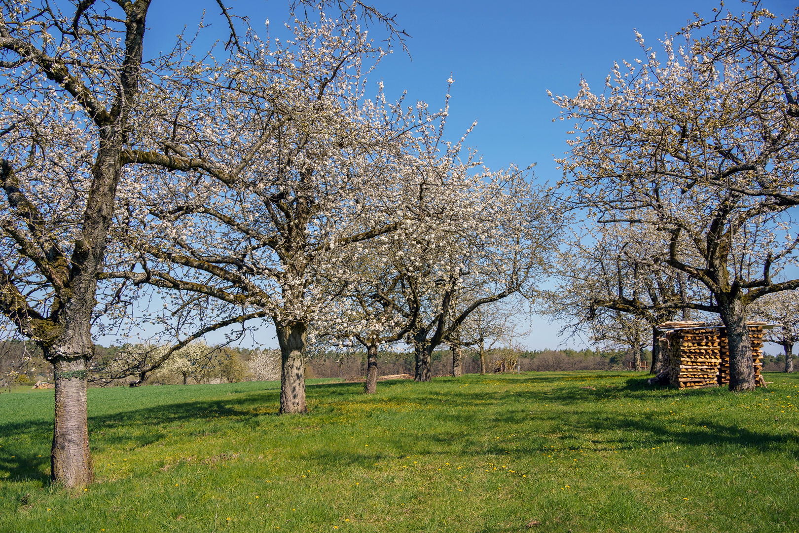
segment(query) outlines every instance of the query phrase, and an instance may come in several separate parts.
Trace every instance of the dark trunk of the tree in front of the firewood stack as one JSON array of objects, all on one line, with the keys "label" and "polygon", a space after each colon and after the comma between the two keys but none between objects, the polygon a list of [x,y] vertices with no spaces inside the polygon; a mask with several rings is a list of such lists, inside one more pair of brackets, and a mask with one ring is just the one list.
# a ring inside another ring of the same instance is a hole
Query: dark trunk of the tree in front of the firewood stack
[{"label": "dark trunk of the tree in front of the firewood stack", "polygon": [[749,342],[744,305],[737,299],[726,301],[718,299],[718,311],[721,321],[727,327],[729,390],[752,391],[757,384],[754,380],[752,345]]}]

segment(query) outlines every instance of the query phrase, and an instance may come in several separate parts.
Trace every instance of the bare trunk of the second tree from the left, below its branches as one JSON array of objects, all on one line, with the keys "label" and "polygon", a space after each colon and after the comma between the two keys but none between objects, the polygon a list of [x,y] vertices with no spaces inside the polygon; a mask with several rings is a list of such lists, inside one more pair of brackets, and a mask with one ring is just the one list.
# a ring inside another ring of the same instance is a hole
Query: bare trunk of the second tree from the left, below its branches
[{"label": "bare trunk of the second tree from the left, below its branches", "polygon": [[280,414],[308,412],[305,405],[305,324],[274,320],[280,344]]}]

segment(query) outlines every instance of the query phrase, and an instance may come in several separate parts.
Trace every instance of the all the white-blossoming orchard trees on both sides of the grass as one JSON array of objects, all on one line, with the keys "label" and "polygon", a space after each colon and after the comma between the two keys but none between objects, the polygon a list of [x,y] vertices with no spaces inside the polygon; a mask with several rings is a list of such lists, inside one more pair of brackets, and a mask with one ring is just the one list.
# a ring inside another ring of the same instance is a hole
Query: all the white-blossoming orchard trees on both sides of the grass
[{"label": "all the white-blossoming orchard trees on both sides of the grass", "polygon": [[754,387],[750,305],[799,287],[797,15],[755,3],[662,52],[639,38],[644,59],[605,93],[555,97],[577,125],[542,188],[487,169],[471,129],[449,141],[448,97],[435,109],[368,81],[404,48],[373,6],[298,2],[278,40],[218,0],[224,46],[180,35],[145,57],[150,3],[2,1],[0,312],[53,366],[58,482],[93,480],[93,338],[145,326],[161,341],[104,379],[141,383],[210,332],[271,321],[285,414],[307,411],[309,344],[362,345],[366,392],[400,341],[415,380],[441,346],[453,374],[466,346],[485,371],[528,301],[636,353],[681,310],[718,313],[730,388]]}]

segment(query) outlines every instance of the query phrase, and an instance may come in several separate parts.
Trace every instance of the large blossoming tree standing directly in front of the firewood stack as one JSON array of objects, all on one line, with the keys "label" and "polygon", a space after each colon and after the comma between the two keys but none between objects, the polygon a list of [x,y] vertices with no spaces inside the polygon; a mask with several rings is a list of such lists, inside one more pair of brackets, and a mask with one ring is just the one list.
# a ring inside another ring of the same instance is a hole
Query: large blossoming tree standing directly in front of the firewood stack
[{"label": "large blossoming tree standing directly in front of the firewood stack", "polygon": [[753,4],[719,14],[710,35],[663,59],[638,42],[643,60],[614,66],[606,93],[587,82],[555,97],[576,119],[559,160],[568,201],[600,223],[646,225],[660,235],[659,263],[700,281],[729,335],[733,391],[755,387],[746,307],[799,287],[777,278],[797,261],[799,205],[796,30],[799,14],[777,20]]}]

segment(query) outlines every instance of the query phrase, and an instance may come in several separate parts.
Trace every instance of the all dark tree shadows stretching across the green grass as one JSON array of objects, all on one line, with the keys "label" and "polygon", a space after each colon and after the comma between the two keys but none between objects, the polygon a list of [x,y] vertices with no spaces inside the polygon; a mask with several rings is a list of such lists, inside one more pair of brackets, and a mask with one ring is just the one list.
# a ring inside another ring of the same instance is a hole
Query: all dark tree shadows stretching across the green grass
[{"label": "all dark tree shadows stretching across the green grass", "polygon": [[[602,376],[604,377],[604,376]],[[618,376],[609,376],[618,377]],[[489,378],[491,379],[491,378]],[[495,379],[495,378],[494,378]],[[522,376],[521,378],[504,378],[503,384],[523,384],[526,381],[536,384],[553,384],[543,390],[524,390],[515,388],[512,391],[491,392],[485,389],[470,392],[469,388],[455,388],[455,384],[465,384],[471,380],[456,380],[455,378],[442,378],[439,384],[446,384],[443,390],[434,384],[413,384],[415,392],[412,397],[403,393],[407,389],[407,380],[390,380],[380,382],[378,395],[362,396],[359,383],[344,384],[315,384],[308,392],[309,399],[315,397],[320,400],[320,424],[324,424],[327,405],[340,400],[353,400],[359,396],[363,401],[363,416],[372,416],[368,406],[372,400],[381,402],[412,401],[419,404],[435,405],[443,403],[447,408],[431,409],[425,411],[427,420],[431,423],[424,428],[422,425],[415,432],[407,432],[390,437],[391,444],[396,449],[414,450],[415,453],[457,452],[463,455],[478,457],[484,454],[510,454],[530,455],[539,453],[544,444],[552,444],[553,440],[561,447],[585,447],[593,451],[634,449],[642,447],[662,446],[663,444],[681,444],[686,446],[717,446],[733,445],[743,449],[771,451],[797,447],[794,435],[776,434],[767,430],[741,428],[736,424],[725,424],[708,420],[702,422],[704,428],[694,426],[675,431],[674,420],[657,420],[654,413],[627,413],[617,411],[598,410],[596,404],[602,400],[630,399],[646,400],[656,397],[663,398],[701,398],[725,394],[719,389],[698,389],[678,391],[675,389],[653,389],[646,385],[646,377],[630,377],[623,383],[602,384],[584,388],[581,381],[571,380],[563,383],[563,376]],[[609,385],[609,386],[605,386]],[[229,431],[233,425],[249,425],[252,428],[260,427],[259,419],[264,416],[276,417],[279,403],[279,390],[269,388],[261,391],[242,390],[245,396],[217,398],[215,400],[177,401],[173,404],[153,405],[146,408],[133,408],[127,411],[91,416],[89,418],[89,435],[92,439],[94,450],[104,447],[136,448],[156,444],[169,436],[163,428],[167,425],[180,426],[204,422],[186,428],[197,435],[210,435],[216,432]],[[477,402],[477,408],[470,408]],[[559,404],[561,409],[550,409],[545,404]],[[264,409],[264,406],[267,407]],[[573,407],[573,411],[563,411],[562,406]],[[330,408],[335,412],[335,408]],[[384,411],[375,411],[383,413]],[[313,413],[312,413],[313,415]],[[696,417],[694,417],[695,419]],[[215,420],[223,421],[221,425]],[[278,428],[283,424],[292,424],[298,417],[286,417],[285,423],[280,419],[272,419]],[[436,424],[438,420],[439,424]],[[445,427],[443,423],[447,423]],[[272,423],[270,423],[272,424]],[[498,442],[487,441],[480,432],[472,435],[468,431],[458,428],[472,428],[475,424],[492,424],[501,429]],[[455,428],[453,428],[455,426]],[[130,428],[129,431],[125,428]],[[22,440],[35,443],[44,443],[42,435],[52,432],[52,422],[49,420],[24,422],[9,422],[0,424],[0,434],[19,436]],[[526,435],[523,440],[509,442],[505,436],[510,433]],[[630,436],[630,437],[626,437]],[[27,446],[27,445],[26,445]],[[38,446],[38,444],[37,444]],[[27,446],[28,449],[32,446]],[[24,447],[23,447],[24,448]],[[3,451],[11,453],[10,447]],[[316,452],[319,455],[321,452]],[[372,461],[372,455],[361,455],[348,451],[346,447],[341,450],[331,450],[324,453],[341,455],[340,459],[361,463]],[[348,454],[352,455],[348,459]],[[9,475],[6,481],[40,480],[47,483],[47,463],[49,457],[38,457],[26,449],[18,449],[10,455],[0,456],[0,471]],[[324,454],[323,454],[324,455]],[[319,460],[332,459],[320,455]]]}]

